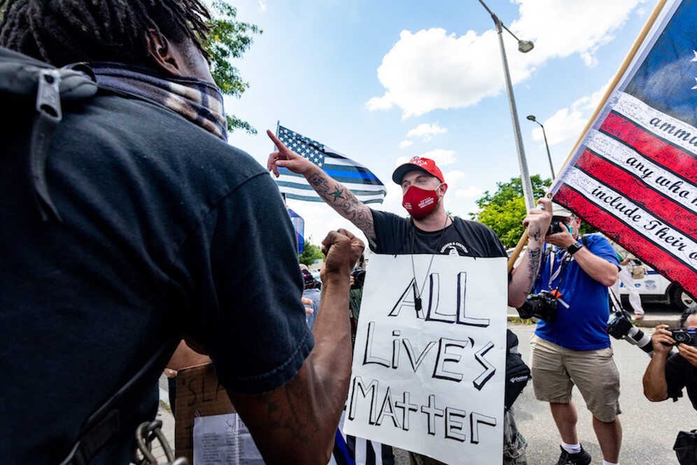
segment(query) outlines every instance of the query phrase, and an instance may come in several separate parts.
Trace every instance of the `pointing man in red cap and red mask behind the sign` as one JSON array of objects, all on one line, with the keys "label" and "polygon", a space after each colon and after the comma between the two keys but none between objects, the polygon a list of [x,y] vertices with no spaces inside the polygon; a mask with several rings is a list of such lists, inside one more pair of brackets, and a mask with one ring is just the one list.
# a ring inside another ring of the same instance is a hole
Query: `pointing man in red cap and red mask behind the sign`
[{"label": "pointing man in red cap and red mask behind the sign", "polygon": [[[376,253],[482,258],[506,256],[504,247],[491,229],[480,223],[446,214],[443,197],[448,186],[433,160],[414,157],[395,170],[393,181],[402,186],[402,205],[410,215],[410,218],[402,218],[386,211],[370,209],[341,183],[306,158],[290,151],[274,134],[267,133],[279,149],[269,155],[269,171],[278,175],[278,169],[282,167],[302,174],[325,202],[365,233],[371,249]],[[519,307],[526,299],[539,269],[544,232],[551,221],[549,200],[540,200],[540,203],[540,208],[531,209],[523,221],[528,226],[530,240],[528,253],[516,269],[517,272],[514,270],[508,280],[507,301],[513,307]],[[428,276],[431,267],[426,263],[424,265],[428,265],[428,270],[425,270],[425,275]],[[419,270],[418,275],[423,275],[423,271]],[[414,271],[413,305],[417,314],[420,314],[427,307],[425,300],[428,289],[425,289],[425,282],[422,284],[421,279],[416,283],[416,275]],[[421,455],[411,456],[412,463],[434,463],[430,460]]]}]

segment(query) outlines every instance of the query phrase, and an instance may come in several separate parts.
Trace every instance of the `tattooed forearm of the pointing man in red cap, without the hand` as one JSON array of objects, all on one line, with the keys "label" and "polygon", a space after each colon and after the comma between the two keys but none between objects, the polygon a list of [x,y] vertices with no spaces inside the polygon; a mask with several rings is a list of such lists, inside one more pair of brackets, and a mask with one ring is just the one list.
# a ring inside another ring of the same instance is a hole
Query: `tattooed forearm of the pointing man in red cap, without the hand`
[{"label": "tattooed forearm of the pointing man in red cap, without the hand", "polygon": [[368,207],[360,202],[355,195],[327,176],[323,172],[316,172],[307,178],[310,186],[316,190],[322,200],[327,202],[341,216],[351,221],[356,228],[362,230],[367,237],[375,239],[375,226],[373,216]]}]

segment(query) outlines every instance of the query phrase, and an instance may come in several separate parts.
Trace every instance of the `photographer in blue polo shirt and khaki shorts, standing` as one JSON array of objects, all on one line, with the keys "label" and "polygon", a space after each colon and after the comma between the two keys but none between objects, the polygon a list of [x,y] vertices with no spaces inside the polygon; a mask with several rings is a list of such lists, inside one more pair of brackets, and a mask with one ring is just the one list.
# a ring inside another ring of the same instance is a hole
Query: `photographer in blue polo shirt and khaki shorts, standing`
[{"label": "photographer in blue polo shirt and khaki shorts, standing", "polygon": [[602,235],[579,237],[581,219],[571,211],[553,204],[552,215],[536,294],[519,309],[539,319],[530,340],[535,397],[549,402],[561,435],[558,465],[591,462],[577,436],[574,385],[593,414],[603,465],[617,464],[622,438],[619,372],[605,331],[610,316],[607,286],[617,279],[617,254]]}]

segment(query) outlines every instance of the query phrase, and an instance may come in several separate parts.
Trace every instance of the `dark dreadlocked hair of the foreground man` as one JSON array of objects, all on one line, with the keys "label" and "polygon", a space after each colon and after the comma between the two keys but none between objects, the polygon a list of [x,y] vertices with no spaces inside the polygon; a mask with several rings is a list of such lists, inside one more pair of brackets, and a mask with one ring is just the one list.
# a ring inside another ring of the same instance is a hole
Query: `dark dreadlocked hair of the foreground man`
[{"label": "dark dreadlocked hair of the foreground man", "polygon": [[[5,7],[4,13],[1,13]],[[0,46],[56,67],[74,62],[150,66],[148,40],[203,46],[210,30],[200,0],[0,0]]]}]

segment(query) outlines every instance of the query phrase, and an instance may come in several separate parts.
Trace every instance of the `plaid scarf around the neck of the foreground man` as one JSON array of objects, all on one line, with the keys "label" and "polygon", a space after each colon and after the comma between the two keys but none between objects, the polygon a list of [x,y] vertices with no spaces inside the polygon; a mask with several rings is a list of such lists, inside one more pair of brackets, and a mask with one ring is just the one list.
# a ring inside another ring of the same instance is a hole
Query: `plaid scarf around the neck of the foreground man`
[{"label": "plaid scarf around the neck of the foreground man", "polygon": [[97,84],[167,107],[216,137],[227,141],[223,95],[216,85],[197,78],[164,78],[144,67],[92,63]]}]

